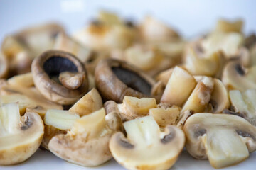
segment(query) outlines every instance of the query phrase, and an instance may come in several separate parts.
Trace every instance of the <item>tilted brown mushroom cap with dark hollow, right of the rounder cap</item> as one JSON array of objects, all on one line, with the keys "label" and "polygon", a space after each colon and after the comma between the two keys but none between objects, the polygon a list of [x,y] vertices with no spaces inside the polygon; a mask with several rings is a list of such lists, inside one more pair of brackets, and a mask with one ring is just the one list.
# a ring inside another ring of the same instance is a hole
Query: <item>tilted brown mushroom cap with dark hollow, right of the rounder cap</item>
[{"label": "tilted brown mushroom cap with dark hollow, right of the rounder cap", "polygon": [[124,96],[151,96],[155,81],[136,67],[120,60],[107,59],[95,69],[97,89],[103,98],[122,103]]}]

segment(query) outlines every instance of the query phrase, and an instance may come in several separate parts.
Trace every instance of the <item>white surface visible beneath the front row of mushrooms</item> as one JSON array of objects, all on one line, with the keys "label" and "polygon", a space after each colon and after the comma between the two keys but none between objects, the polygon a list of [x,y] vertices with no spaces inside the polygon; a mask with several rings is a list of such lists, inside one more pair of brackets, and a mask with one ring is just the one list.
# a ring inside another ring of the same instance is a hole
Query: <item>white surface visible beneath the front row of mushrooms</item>
[{"label": "white surface visible beneath the front row of mushrooms", "polygon": [[[228,168],[224,168],[221,170],[255,170],[256,169],[256,152],[250,154],[250,157],[246,159],[244,162],[237,164],[235,166],[230,166]],[[28,161],[23,162],[22,164],[18,164],[15,166],[0,166],[1,170],[122,170],[122,166],[117,164],[114,159],[111,159],[109,162],[102,164],[102,166],[97,166],[94,168],[86,168],[83,166],[78,166],[75,164],[70,164],[68,162],[55,157],[53,154],[46,150],[40,150],[36,152],[36,154],[28,159]],[[191,157],[186,151],[183,151],[176,164],[171,167],[171,170],[213,170],[214,168],[210,166],[208,160],[198,160]]]}]

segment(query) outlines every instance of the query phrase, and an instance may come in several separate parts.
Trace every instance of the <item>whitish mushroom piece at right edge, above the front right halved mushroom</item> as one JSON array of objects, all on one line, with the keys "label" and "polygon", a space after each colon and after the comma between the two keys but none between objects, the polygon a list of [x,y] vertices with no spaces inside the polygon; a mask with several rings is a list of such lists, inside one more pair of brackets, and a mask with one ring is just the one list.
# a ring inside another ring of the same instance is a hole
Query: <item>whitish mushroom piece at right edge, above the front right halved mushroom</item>
[{"label": "whitish mushroom piece at right edge, above the front right halved mushroom", "polygon": [[230,102],[243,118],[256,126],[256,89],[229,91]]}]

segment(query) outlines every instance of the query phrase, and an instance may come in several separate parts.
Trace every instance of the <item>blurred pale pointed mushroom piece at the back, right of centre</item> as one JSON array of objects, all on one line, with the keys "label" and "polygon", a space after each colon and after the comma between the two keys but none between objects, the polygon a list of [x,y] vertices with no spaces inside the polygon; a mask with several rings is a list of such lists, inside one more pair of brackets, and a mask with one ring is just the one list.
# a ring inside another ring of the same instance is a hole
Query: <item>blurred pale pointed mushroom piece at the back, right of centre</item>
[{"label": "blurred pale pointed mushroom piece at the back, right of centre", "polygon": [[144,21],[139,26],[139,32],[145,42],[171,42],[179,39],[179,35],[175,30],[151,16],[144,18]]}]

